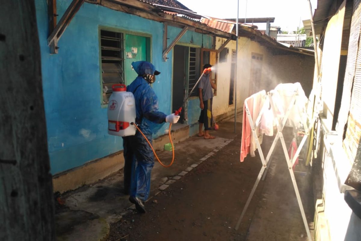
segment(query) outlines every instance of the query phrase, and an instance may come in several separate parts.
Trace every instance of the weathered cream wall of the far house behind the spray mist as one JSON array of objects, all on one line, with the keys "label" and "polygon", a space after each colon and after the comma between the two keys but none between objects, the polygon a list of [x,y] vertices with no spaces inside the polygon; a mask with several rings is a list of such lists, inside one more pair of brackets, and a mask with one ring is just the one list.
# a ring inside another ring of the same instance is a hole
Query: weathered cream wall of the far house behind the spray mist
[{"label": "weathered cream wall of the far house behind the spray mist", "polygon": [[[226,39],[216,39],[218,49]],[[234,111],[234,104],[229,105],[229,89],[231,78],[231,55],[236,50],[236,41],[230,41],[227,62],[217,66],[217,96],[213,98],[213,115],[221,115]],[[271,50],[248,38],[239,38],[238,71],[237,71],[237,109],[243,108],[244,100],[249,96],[251,78],[252,53],[263,56],[260,90],[274,89],[279,83],[300,82],[308,96],[313,81],[314,57],[298,53],[274,55]]]}]

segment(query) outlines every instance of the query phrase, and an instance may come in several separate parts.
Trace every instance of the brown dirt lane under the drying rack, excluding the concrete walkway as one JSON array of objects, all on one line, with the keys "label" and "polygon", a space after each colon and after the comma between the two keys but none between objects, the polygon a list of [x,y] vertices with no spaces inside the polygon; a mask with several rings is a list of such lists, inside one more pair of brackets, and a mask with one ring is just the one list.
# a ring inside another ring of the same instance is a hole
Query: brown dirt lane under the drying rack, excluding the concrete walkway
[{"label": "brown dirt lane under the drying rack, excluding the concrete walkway", "polygon": [[[232,121],[223,122],[220,126],[221,131],[213,131],[212,134],[233,131]],[[264,139],[262,146],[266,146],[266,151],[272,140],[271,137]],[[108,241],[306,240],[280,145],[277,145],[266,180],[258,185],[240,228],[235,230],[261,168],[258,153],[254,158],[248,155],[243,163],[239,162],[240,144],[241,133],[238,132],[234,141],[150,198],[145,203],[146,214],[132,211],[111,224]],[[307,188],[309,181],[300,179],[310,179],[307,177],[296,175],[296,180],[301,182],[299,188],[306,216],[312,223],[312,202],[309,201],[312,195]]]}]

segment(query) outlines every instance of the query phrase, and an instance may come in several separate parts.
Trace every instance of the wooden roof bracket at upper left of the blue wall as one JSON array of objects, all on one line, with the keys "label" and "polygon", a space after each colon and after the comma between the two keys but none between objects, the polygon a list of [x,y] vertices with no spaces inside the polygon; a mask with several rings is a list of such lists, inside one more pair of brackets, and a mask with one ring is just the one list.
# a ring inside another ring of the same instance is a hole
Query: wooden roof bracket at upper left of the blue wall
[{"label": "wooden roof bracket at upper left of the blue wall", "polygon": [[[73,0],[68,9],[66,9],[65,13],[61,17],[60,21],[56,25],[55,29],[51,31],[51,34],[48,37],[48,45],[50,47],[50,54],[58,53],[58,40],[60,39],[61,35],[64,33],[66,27],[68,27],[71,19],[75,16],[75,13],[78,12],[81,5],[84,3],[85,0]],[[49,5],[49,22],[54,22],[55,17],[57,16],[54,13],[55,9],[56,12],[56,1],[50,1],[52,5]],[[54,5],[55,4],[55,5]],[[51,10],[51,11],[50,11]],[[56,22],[56,20],[55,20]]]}]

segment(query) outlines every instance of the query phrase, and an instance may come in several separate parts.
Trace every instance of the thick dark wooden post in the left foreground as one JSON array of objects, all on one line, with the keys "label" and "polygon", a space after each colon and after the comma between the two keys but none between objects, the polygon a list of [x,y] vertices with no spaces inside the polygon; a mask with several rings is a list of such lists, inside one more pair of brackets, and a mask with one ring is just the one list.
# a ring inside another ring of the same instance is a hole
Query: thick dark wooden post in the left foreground
[{"label": "thick dark wooden post in the left foreground", "polygon": [[0,8],[0,240],[55,240],[34,0]]}]

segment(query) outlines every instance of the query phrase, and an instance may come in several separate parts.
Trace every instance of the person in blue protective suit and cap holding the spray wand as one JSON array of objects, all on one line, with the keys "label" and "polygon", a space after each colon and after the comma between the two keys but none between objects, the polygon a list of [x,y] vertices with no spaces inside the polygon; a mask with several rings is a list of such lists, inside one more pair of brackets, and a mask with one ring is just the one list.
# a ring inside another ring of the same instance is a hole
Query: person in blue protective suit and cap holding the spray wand
[{"label": "person in blue protective suit and cap holding the spray wand", "polygon": [[[160,74],[155,66],[146,61],[132,63],[138,77],[127,86],[135,98],[136,119],[139,129],[152,143],[152,134],[157,132],[162,123],[177,123],[179,116],[166,115],[158,111],[158,98],[151,83]],[[129,201],[135,204],[139,212],[144,213],[144,201],[147,200],[151,184],[151,171],[154,165],[154,154],[147,141],[137,130],[135,135],[123,137],[124,147],[124,191],[130,193]]]}]

